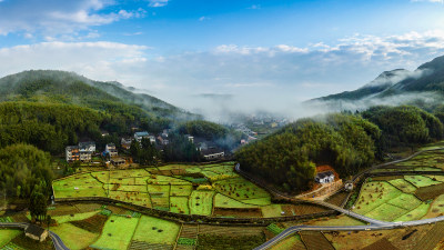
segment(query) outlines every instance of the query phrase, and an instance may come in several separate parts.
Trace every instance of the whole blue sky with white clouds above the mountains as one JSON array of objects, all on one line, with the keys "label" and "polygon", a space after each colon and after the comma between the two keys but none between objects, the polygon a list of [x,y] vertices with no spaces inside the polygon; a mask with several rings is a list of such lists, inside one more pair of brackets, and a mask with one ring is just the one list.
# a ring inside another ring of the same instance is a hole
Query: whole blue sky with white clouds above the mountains
[{"label": "whole blue sky with white clouds above the mountains", "polygon": [[0,77],[119,81],[220,119],[354,90],[444,54],[443,0],[0,0]]}]

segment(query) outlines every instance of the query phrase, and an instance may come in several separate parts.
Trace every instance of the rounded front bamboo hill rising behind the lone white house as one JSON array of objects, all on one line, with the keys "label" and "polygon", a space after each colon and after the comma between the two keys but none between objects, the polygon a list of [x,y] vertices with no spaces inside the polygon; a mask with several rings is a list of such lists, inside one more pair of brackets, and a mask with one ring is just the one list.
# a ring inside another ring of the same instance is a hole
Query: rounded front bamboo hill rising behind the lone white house
[{"label": "rounded front bamboo hill rising behind the lone white house", "polygon": [[332,164],[353,174],[375,159],[381,131],[359,116],[329,114],[301,119],[279,132],[242,148],[236,159],[245,171],[258,173],[286,191],[311,188],[315,166]]}]

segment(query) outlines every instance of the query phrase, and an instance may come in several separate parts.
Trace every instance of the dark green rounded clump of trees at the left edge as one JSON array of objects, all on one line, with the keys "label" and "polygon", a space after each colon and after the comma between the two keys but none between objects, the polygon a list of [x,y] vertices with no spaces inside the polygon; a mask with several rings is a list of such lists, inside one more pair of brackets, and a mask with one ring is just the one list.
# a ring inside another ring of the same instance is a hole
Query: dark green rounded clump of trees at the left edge
[{"label": "dark green rounded clump of trees at the left edge", "polygon": [[29,144],[0,149],[0,189],[9,197],[30,198],[34,190],[48,197],[51,181],[48,153]]}]

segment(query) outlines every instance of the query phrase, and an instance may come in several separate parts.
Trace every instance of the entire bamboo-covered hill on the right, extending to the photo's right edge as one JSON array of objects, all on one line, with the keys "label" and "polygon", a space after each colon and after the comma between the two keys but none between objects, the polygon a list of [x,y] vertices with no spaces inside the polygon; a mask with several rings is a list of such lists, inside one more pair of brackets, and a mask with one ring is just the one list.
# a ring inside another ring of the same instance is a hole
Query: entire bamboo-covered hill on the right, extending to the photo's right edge
[{"label": "entire bamboo-covered hill on the right, extending to the photo's right edge", "polygon": [[410,106],[373,107],[361,113],[301,119],[236,152],[241,168],[290,192],[309,190],[315,167],[332,166],[341,178],[369,168],[384,152],[443,139],[442,109],[432,114]]}]

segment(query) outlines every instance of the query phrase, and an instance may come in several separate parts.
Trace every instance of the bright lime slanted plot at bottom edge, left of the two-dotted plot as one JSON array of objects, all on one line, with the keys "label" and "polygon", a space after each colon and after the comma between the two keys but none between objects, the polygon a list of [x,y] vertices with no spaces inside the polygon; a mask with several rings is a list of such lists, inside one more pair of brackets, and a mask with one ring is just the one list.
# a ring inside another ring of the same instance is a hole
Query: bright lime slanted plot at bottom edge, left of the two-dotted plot
[{"label": "bright lime slanted plot at bottom edge, left of the two-dotted plot", "polygon": [[111,216],[99,240],[91,247],[98,249],[128,249],[138,227],[139,218]]}]

